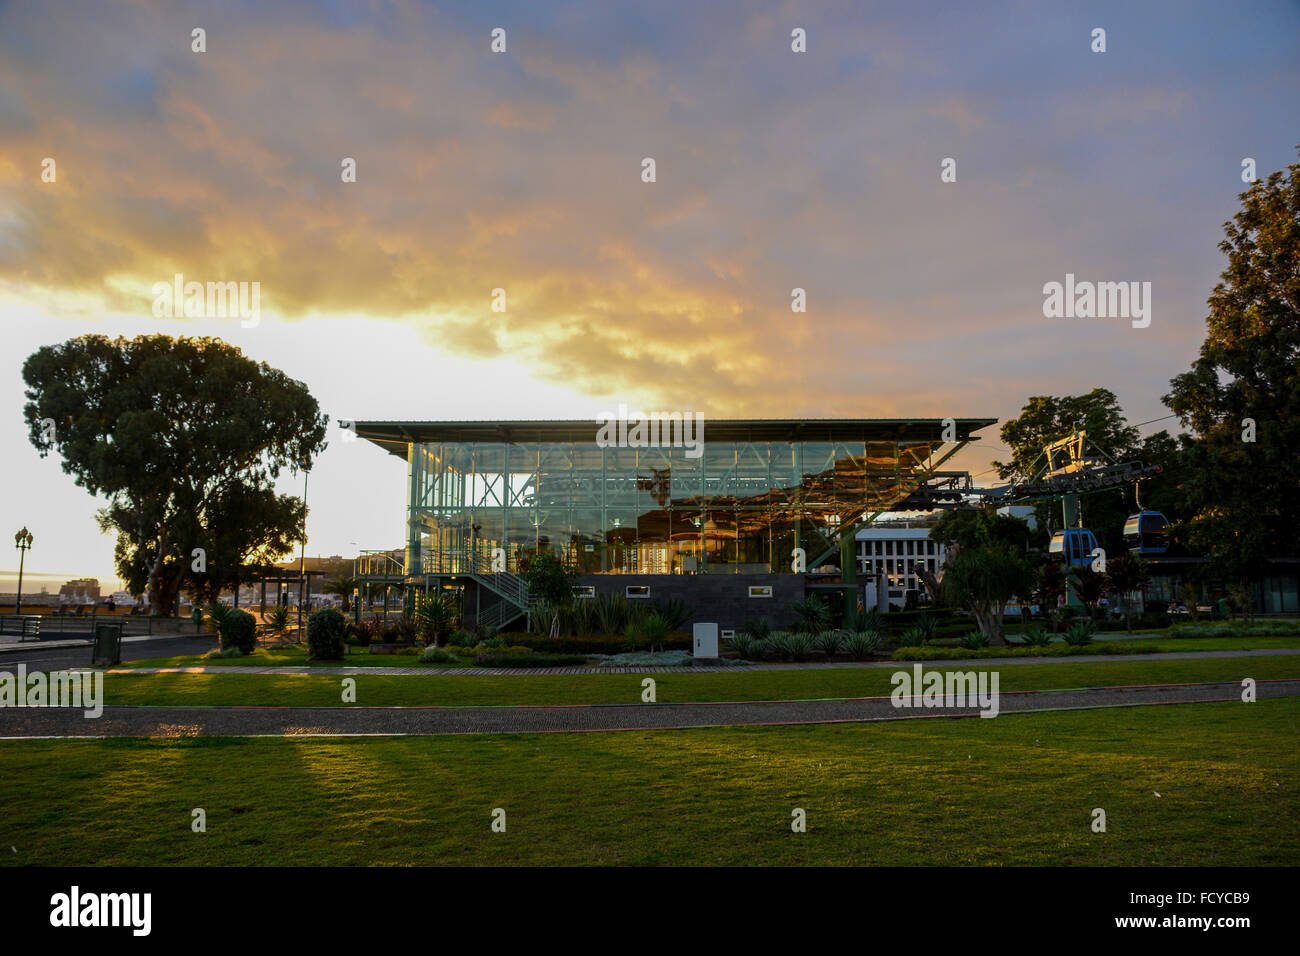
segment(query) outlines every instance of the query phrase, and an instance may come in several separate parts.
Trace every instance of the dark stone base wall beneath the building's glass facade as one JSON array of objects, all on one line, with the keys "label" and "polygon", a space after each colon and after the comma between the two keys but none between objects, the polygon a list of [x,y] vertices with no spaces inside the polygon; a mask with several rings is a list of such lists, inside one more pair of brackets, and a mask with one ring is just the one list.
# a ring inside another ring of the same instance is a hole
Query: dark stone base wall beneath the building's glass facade
[{"label": "dark stone base wall beneath the building's glass facade", "polygon": [[[650,588],[649,601],[676,598],[690,611],[688,633],[697,622],[728,630],[755,618],[767,618],[774,627],[784,628],[794,623],[790,606],[803,600],[803,576],[786,574],[578,575],[575,584],[590,585],[597,594],[623,594],[629,585],[645,585]],[[772,596],[749,597],[750,585],[771,587]]]}]

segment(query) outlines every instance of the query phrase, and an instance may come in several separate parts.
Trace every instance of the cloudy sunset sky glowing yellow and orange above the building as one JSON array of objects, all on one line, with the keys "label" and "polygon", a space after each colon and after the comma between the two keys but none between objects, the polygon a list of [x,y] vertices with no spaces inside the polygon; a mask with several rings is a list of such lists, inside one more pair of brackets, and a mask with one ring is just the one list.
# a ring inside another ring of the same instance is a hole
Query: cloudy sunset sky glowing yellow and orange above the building
[{"label": "cloudy sunset sky glowing yellow and orange above the building", "polygon": [[[0,3],[0,591],[23,524],[25,591],[114,578],[27,441],[42,345],[220,336],[332,419],[1005,420],[1102,385],[1138,423],[1243,159],[1296,142],[1295,3]],[[260,324],[155,317],[176,273],[260,282]],[[1045,319],[1067,273],[1150,282],[1150,326]],[[332,433],[308,554],[400,545],[404,466]]]}]

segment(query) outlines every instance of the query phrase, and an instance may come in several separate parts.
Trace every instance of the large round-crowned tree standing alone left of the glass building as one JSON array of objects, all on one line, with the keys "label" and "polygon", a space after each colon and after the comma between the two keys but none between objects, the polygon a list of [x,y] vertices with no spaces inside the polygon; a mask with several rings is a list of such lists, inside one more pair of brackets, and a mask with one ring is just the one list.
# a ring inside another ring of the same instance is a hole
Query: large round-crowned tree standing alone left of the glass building
[{"label": "large round-crowned tree standing alone left of the glass building", "polygon": [[274,480],[325,447],[328,419],[302,382],[221,339],[170,336],[82,336],[35,351],[22,376],[32,445],[108,498],[118,574],[153,614],[300,537],[306,506]]}]

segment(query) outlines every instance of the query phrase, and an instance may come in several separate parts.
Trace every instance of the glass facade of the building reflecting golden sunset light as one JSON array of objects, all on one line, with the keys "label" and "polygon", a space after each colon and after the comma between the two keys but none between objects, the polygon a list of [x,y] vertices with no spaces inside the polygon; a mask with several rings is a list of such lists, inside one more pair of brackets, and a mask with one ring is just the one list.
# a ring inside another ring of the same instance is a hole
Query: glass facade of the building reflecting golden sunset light
[{"label": "glass facade of the building reflecting golden sunset light", "polygon": [[838,548],[841,524],[906,498],[942,445],[880,440],[872,423],[838,421],[784,429],[797,440],[723,423],[731,428],[714,433],[736,440],[602,447],[594,425],[558,424],[534,436],[526,423],[498,423],[498,434],[406,442],[408,571],[519,572],[550,550],[582,574],[792,572],[796,548],[811,570]]}]

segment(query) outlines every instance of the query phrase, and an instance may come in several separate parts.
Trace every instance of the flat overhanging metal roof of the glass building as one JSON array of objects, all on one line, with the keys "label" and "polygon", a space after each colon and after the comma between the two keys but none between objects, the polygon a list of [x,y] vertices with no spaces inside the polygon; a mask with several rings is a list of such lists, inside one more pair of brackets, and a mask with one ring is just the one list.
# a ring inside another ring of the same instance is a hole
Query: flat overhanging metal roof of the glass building
[{"label": "flat overhanging metal roof of the glass building", "polygon": [[[706,441],[898,441],[944,444],[949,419],[705,419]],[[958,441],[997,419],[953,419]],[[511,421],[355,421],[356,434],[406,458],[408,442],[589,442],[595,419]]]}]

